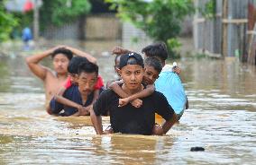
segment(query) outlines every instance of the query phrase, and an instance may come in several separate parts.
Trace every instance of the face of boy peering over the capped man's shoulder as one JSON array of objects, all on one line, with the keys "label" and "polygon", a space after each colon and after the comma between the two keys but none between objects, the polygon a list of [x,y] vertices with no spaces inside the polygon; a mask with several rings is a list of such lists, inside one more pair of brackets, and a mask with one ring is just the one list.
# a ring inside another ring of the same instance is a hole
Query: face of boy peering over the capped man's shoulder
[{"label": "face of boy peering over the capped man's shoulder", "polygon": [[145,74],[143,76],[143,83],[146,85],[150,85],[155,83],[155,81],[159,78],[159,72],[154,69],[154,67],[145,65]]}]

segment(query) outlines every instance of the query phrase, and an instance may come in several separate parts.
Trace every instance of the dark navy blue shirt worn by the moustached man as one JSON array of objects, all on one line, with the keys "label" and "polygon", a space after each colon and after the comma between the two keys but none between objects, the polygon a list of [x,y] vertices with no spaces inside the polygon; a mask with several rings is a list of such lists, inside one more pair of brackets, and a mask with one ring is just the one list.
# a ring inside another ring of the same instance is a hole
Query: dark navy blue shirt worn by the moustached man
[{"label": "dark navy blue shirt worn by the moustached man", "polygon": [[[103,91],[103,89],[101,89],[100,92],[101,91]],[[72,100],[72,101],[78,103],[79,105],[87,107],[88,105],[90,105],[92,103],[92,101],[94,99],[94,92],[91,92],[88,95],[87,102],[85,104],[83,104],[81,94],[78,91],[78,85],[73,84],[71,87],[69,87],[69,89],[67,89],[64,92],[63,97],[68,100]],[[78,112],[78,109],[69,107],[69,106],[65,106],[65,105],[57,102],[54,98],[52,100],[50,100],[50,109],[53,114],[63,116],[63,117],[68,117],[68,116],[73,115],[76,112]],[[64,112],[61,112],[61,110],[64,110]]]}]

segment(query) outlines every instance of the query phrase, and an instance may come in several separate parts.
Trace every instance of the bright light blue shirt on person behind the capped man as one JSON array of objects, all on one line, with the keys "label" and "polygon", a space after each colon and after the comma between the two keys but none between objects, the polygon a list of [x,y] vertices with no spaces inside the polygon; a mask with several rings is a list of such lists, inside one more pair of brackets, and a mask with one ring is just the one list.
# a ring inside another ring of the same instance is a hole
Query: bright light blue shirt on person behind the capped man
[{"label": "bright light blue shirt on person behind the capped man", "polygon": [[170,71],[161,72],[160,77],[155,82],[155,87],[156,91],[163,93],[175,113],[181,116],[185,109],[187,97],[178,74]]}]

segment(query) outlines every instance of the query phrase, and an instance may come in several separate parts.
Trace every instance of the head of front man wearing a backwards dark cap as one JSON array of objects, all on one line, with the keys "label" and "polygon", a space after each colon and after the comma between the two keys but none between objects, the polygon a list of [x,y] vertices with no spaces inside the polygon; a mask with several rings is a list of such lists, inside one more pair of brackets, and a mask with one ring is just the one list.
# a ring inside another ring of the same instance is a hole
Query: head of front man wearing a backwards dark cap
[{"label": "head of front man wearing a backwards dark cap", "polygon": [[142,86],[144,63],[142,56],[137,53],[124,54],[120,57],[119,74],[125,87],[136,91]]}]

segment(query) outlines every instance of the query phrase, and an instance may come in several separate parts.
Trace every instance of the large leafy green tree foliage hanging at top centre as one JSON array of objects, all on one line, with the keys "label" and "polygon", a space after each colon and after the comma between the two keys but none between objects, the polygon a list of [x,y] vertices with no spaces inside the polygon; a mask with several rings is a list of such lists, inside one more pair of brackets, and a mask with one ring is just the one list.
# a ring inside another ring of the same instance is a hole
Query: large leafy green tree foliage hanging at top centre
[{"label": "large leafy green tree foliage hanging at top centre", "polygon": [[[105,0],[117,8],[118,16],[123,21],[132,22],[155,40],[175,39],[181,30],[181,22],[189,13],[194,12],[192,0]],[[169,53],[174,56],[173,40],[168,44]]]}]

